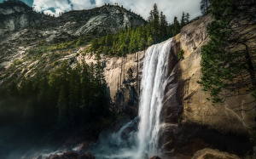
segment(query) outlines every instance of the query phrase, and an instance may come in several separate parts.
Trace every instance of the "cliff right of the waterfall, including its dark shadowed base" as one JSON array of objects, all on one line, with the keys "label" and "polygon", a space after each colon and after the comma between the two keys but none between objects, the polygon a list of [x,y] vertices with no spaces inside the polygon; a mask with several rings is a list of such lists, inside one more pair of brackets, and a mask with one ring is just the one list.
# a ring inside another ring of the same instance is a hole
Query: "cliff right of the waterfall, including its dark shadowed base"
[{"label": "cliff right of the waterfall, including its dark shadowed base", "polygon": [[[210,95],[198,83],[201,79],[201,47],[205,45],[211,16],[204,16],[184,26],[173,39],[170,70],[178,84],[173,97],[166,90],[163,128],[160,136],[166,156],[191,157],[206,147],[244,155],[252,150],[249,138],[256,126],[255,99],[252,92],[228,97],[224,103],[212,104]],[[177,60],[180,50],[183,60]],[[172,83],[170,83],[171,85]],[[229,94],[225,92],[225,94]],[[174,155],[175,154],[175,155]]]}]

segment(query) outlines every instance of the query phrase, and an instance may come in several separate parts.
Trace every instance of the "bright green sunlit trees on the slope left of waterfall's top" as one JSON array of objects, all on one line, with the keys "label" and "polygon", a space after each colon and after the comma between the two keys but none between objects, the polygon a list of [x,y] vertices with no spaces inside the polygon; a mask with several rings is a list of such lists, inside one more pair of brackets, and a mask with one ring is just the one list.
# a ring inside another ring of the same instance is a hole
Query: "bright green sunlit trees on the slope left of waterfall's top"
[{"label": "bright green sunlit trees on the slope left of waterfall's top", "polygon": [[155,43],[159,36],[150,25],[128,28],[114,35],[108,35],[95,39],[91,42],[90,51],[93,53],[106,54],[108,56],[124,56],[147,48]]}]

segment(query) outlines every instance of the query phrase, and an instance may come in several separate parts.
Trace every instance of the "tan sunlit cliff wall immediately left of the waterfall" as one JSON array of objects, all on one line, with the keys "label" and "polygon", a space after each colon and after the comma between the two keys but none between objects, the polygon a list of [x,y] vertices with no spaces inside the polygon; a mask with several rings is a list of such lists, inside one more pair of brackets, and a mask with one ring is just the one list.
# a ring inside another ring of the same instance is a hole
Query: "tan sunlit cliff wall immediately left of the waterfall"
[{"label": "tan sunlit cliff wall immediately left of the waterfall", "polygon": [[[127,54],[125,57],[102,56],[102,63],[105,66],[104,76],[113,101],[113,109],[131,118],[137,116],[143,57],[144,52]],[[96,63],[96,58],[85,55],[80,56],[79,61]]]}]

